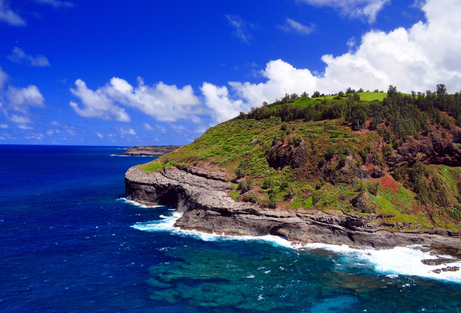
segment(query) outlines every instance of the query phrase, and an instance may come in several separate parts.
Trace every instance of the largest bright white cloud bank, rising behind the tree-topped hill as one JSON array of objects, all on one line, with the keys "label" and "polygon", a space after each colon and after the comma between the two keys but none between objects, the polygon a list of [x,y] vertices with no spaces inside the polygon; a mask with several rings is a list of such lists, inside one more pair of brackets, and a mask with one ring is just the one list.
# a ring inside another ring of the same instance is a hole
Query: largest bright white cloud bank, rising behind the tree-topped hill
[{"label": "largest bright white cloud bank, rising behind the tree-topped hill", "polygon": [[[233,92],[246,104],[231,101],[227,89],[219,89],[221,96],[214,100],[227,103],[220,105],[221,121],[236,110],[259,106],[263,101],[272,102],[285,93],[313,92],[319,90],[333,94],[347,87],[365,90],[384,89],[397,86],[402,92],[425,92],[434,90],[437,84],[445,84],[448,92],[461,89],[461,19],[460,0],[428,0],[423,6],[427,22],[418,22],[409,29],[398,28],[388,33],[369,31],[355,48],[338,57],[326,54],[322,57],[325,71],[314,75],[308,69],[298,69],[282,60],[270,61],[261,71],[267,80],[259,84],[249,82],[229,82]],[[208,89],[211,89],[210,87]],[[202,91],[205,99],[207,90]],[[214,92],[217,94],[217,92]],[[207,101],[212,107],[212,101]],[[228,114],[225,114],[228,112]]]}]

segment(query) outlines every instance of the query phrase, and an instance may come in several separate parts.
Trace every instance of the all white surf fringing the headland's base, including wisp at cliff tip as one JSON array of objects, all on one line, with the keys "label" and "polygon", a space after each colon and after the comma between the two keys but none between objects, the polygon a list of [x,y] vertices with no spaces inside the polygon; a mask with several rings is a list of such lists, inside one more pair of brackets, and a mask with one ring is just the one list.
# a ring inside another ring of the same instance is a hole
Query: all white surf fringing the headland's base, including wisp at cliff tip
[{"label": "all white surf fringing the headland's base, including wisp at cliff tip", "polygon": [[[149,208],[126,198],[121,200],[141,208]],[[152,209],[161,206],[150,207]],[[447,268],[460,268],[461,259],[446,254],[440,247],[425,247],[413,245],[407,247],[394,247],[392,249],[354,249],[347,245],[327,245],[311,243],[301,245],[299,242],[289,242],[275,235],[250,236],[250,235],[226,235],[224,233],[204,233],[200,231],[184,230],[175,226],[175,221],[180,219],[180,214],[173,208],[168,209],[171,214],[161,214],[160,219],[153,221],[138,222],[131,227],[138,231],[163,232],[172,235],[195,238],[205,242],[226,242],[237,240],[242,242],[256,241],[265,242],[268,245],[280,248],[294,249],[298,251],[312,252],[314,254],[328,254],[331,256],[344,256],[348,262],[365,266],[364,261],[373,264],[374,270],[386,275],[389,278],[396,278],[399,275],[418,276],[428,279],[444,280],[446,282],[461,283],[459,271],[446,270]],[[445,270],[444,270],[445,269]]]}]

